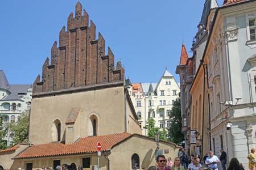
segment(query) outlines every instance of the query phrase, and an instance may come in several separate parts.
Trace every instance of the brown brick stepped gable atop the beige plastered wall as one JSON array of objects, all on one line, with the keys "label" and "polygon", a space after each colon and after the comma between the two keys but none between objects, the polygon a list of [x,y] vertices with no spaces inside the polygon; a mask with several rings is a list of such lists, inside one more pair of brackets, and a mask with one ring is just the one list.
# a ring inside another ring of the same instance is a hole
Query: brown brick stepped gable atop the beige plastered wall
[{"label": "brown brick stepped gable atop the beige plastered wall", "polygon": [[33,84],[33,95],[54,91],[76,89],[76,87],[123,82],[124,69],[120,61],[114,67],[114,54],[108,48],[105,55],[105,40],[98,33],[82,5],[77,2],[76,14],[68,17],[68,30],[60,31],[59,48],[55,41],[51,49],[51,65],[47,57],[43,65],[42,80],[37,76]]}]

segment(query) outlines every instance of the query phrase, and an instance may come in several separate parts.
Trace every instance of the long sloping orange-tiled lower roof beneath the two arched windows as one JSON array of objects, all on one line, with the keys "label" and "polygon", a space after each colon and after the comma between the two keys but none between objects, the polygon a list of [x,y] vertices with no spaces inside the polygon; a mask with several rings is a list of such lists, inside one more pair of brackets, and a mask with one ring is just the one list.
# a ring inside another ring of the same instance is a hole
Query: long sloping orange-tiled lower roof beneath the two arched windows
[{"label": "long sloping orange-tiled lower roof beneath the two arched windows", "polygon": [[101,143],[101,151],[110,150],[115,144],[130,137],[129,133],[117,133],[102,135],[96,137],[81,138],[76,143],[46,143],[42,145],[32,145],[27,150],[15,157],[15,159],[23,158],[39,158],[45,156],[60,156],[97,152],[97,142]]}]

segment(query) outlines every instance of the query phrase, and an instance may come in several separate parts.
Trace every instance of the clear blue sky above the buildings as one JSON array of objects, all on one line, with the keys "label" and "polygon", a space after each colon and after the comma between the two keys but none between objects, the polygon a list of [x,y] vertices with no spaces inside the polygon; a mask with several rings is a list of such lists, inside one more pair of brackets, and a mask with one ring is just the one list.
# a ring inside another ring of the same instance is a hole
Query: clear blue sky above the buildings
[{"label": "clear blue sky above the buildings", "polygon": [[[131,82],[157,83],[164,70],[175,76],[182,41],[189,51],[204,0],[80,0],[121,59]],[[221,5],[223,0],[219,0]],[[67,25],[74,0],[0,1],[0,70],[10,84],[32,84],[59,32]],[[75,13],[75,12],[74,12]],[[67,27],[66,27],[67,28]],[[59,45],[58,45],[59,46]],[[107,49],[107,48],[106,48]],[[189,53],[189,56],[192,54]]]}]

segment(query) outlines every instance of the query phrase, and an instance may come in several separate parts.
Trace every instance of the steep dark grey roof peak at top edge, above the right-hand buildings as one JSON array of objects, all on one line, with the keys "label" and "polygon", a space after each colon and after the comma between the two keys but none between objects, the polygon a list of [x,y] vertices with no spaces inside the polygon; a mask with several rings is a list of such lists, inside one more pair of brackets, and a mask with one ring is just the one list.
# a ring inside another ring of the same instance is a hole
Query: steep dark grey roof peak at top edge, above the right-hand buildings
[{"label": "steep dark grey roof peak at top edge, above the right-hand buildings", "polygon": [[207,18],[210,13],[210,10],[217,7],[218,7],[218,3],[216,0],[205,0],[203,14],[201,16],[201,21],[199,24],[204,25],[204,27],[206,27]]}]

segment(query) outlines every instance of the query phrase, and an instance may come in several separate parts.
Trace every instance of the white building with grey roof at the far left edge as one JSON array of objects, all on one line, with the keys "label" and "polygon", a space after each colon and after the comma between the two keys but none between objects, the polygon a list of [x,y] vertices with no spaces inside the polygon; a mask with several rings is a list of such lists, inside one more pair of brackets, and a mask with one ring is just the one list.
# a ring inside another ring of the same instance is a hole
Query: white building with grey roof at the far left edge
[{"label": "white building with grey roof at the far left edge", "polygon": [[[17,122],[18,116],[30,109],[32,99],[31,84],[9,84],[5,73],[0,70],[0,117],[3,124]],[[8,131],[7,146],[13,145],[13,133]]]}]

